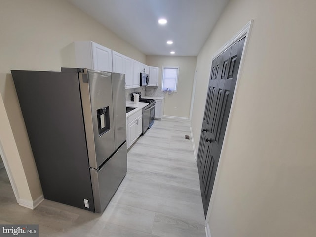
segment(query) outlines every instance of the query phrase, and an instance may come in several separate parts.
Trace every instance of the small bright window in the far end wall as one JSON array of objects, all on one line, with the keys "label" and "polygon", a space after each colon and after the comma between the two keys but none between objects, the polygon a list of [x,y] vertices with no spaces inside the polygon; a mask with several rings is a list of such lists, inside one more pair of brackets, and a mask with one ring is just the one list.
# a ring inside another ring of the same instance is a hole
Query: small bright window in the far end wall
[{"label": "small bright window in the far end wall", "polygon": [[177,91],[179,67],[162,67],[163,91]]}]

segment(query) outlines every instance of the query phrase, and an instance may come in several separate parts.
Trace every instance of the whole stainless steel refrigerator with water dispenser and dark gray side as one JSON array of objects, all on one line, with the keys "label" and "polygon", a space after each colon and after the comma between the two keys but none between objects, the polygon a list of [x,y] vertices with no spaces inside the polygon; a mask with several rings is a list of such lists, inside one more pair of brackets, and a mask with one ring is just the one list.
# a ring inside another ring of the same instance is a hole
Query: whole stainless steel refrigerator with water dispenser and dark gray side
[{"label": "whole stainless steel refrigerator with water dispenser and dark gray side", "polygon": [[103,212],[127,172],[125,75],[11,72],[45,199]]}]

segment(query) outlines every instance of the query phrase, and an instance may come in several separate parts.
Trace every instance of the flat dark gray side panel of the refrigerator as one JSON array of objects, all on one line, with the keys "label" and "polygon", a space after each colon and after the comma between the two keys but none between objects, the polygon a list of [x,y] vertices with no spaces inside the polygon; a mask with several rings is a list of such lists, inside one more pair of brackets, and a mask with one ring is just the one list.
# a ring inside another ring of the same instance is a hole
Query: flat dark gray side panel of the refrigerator
[{"label": "flat dark gray side panel of the refrigerator", "polygon": [[45,199],[94,211],[77,72],[12,76]]}]

